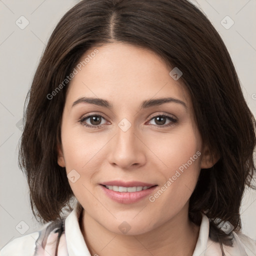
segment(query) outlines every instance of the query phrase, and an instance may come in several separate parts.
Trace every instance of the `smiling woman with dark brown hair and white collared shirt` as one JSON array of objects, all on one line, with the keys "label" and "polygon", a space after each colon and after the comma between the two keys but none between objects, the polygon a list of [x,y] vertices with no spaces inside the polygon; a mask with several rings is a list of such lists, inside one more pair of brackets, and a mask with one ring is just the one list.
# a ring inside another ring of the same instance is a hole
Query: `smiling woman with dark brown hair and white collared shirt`
[{"label": "smiling woman with dark brown hair and white collared shirt", "polygon": [[256,252],[239,215],[255,119],[188,1],[80,1],[49,39],[25,117],[20,167],[44,226],[0,255]]}]

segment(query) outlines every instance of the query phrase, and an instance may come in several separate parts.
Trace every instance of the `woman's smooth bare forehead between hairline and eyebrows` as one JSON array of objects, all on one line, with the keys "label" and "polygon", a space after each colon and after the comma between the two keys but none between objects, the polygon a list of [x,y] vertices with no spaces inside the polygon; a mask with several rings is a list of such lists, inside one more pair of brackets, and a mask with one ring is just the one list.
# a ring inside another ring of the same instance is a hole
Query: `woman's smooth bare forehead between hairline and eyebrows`
[{"label": "woman's smooth bare forehead between hairline and eyebrows", "polygon": [[[97,49],[97,53],[94,49]],[[116,107],[140,104],[153,97],[173,97],[189,106],[189,96],[171,68],[153,51],[128,43],[88,49],[75,66],[66,103],[81,96],[105,98]]]}]

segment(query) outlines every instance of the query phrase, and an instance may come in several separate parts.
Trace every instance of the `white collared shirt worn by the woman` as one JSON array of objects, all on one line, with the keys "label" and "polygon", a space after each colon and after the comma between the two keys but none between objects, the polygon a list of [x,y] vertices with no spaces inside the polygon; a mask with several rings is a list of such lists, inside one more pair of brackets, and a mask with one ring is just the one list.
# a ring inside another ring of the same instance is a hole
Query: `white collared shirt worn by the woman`
[{"label": "white collared shirt worn by the woman", "polygon": [[[37,232],[13,239],[0,250],[0,256],[91,256],[79,227],[80,212],[81,205],[77,202],[75,208],[62,221],[48,222]],[[233,247],[223,244],[226,256],[256,256],[256,240],[241,232],[232,233]],[[212,241],[208,234],[209,219],[202,214],[192,256],[222,255],[219,243]],[[60,239],[56,245],[58,235]]]}]

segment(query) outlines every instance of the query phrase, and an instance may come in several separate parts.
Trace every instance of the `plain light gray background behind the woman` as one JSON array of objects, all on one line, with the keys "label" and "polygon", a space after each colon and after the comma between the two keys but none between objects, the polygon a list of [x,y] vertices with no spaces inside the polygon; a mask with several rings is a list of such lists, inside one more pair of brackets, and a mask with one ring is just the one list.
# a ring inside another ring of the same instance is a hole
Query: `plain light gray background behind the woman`
[{"label": "plain light gray background behind the woman", "polygon": [[[244,96],[255,116],[256,0],[191,1],[207,15],[227,45]],[[25,177],[17,165],[20,119],[26,93],[50,33],[76,2],[0,0],[0,248],[39,227],[30,209]],[[23,29],[20,26],[27,21],[20,16],[29,22]],[[256,192],[246,191],[240,212],[243,233],[256,240]]]}]

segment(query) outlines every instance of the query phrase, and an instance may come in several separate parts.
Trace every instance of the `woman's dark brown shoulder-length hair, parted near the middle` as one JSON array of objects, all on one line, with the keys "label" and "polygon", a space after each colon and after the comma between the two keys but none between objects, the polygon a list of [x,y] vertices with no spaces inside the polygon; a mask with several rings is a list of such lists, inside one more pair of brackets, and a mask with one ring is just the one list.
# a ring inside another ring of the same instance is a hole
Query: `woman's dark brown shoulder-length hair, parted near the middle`
[{"label": "woman's dark brown shoulder-length hair, parted near the middle", "polygon": [[255,119],[221,37],[186,0],[82,0],[58,22],[26,98],[20,143],[19,165],[27,177],[33,214],[43,222],[55,220],[73,197],[56,151],[68,83],[51,99],[47,95],[87,49],[114,41],[148,48],[182,71],[180,81],[191,96],[202,141],[220,156],[213,167],[201,169],[189,218],[199,224],[200,212],[205,212],[212,239],[230,244],[213,220],[241,228],[239,207],[255,170]]}]

